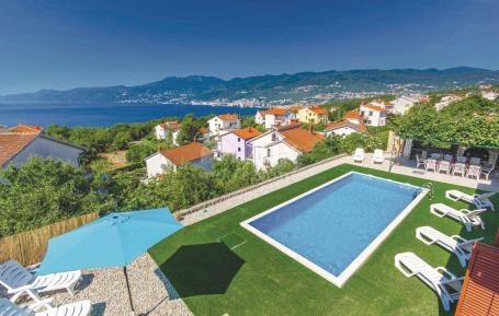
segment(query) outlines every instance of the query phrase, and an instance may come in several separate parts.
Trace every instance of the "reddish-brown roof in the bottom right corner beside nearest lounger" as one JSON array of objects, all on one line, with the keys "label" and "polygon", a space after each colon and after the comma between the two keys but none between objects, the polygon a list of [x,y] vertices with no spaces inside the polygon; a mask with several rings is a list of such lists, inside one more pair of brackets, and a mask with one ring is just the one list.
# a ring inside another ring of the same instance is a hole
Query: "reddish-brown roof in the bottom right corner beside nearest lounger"
[{"label": "reddish-brown roof in the bottom right corner beside nearest lounger", "polygon": [[499,315],[499,248],[476,243],[455,316]]}]

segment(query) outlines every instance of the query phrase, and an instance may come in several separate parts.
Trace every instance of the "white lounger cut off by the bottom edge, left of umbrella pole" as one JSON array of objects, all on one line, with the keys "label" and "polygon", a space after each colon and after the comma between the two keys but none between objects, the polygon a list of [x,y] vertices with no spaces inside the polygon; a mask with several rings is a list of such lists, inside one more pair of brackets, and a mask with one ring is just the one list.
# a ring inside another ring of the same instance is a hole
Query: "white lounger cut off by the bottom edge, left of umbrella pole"
[{"label": "white lounger cut off by the bottom edge, left of umbrella pole", "polygon": [[[87,316],[92,309],[90,301],[81,301],[71,304],[66,304],[59,307],[52,307],[45,300],[43,303],[30,305],[26,309],[19,307],[7,299],[0,299],[0,315],[5,316]],[[43,312],[36,312],[41,307],[48,308]]]}]

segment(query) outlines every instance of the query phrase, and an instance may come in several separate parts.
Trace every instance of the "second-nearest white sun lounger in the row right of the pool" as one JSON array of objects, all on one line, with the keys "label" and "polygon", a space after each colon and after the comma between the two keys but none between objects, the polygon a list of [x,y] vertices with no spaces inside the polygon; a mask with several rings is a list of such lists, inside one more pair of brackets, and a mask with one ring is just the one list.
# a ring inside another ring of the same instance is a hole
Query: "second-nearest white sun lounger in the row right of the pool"
[{"label": "second-nearest white sun lounger in the row right of the pool", "polygon": [[469,258],[472,258],[472,250],[475,242],[483,239],[477,238],[468,241],[461,237],[460,235],[449,236],[430,226],[416,229],[416,238],[420,239],[427,245],[438,244],[442,248],[454,253],[457,256],[457,259],[460,260],[462,267],[466,267],[467,261]]}]

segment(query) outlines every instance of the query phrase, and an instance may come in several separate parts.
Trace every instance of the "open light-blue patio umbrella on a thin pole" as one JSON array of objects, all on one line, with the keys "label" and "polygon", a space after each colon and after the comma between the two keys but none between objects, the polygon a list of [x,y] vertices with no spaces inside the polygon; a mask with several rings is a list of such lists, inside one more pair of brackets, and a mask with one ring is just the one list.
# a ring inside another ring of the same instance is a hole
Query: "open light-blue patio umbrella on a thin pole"
[{"label": "open light-blue patio umbrella on a thin pole", "polygon": [[111,213],[52,238],[37,274],[123,267],[134,312],[126,266],[180,229],[167,208]]}]

